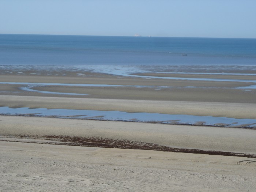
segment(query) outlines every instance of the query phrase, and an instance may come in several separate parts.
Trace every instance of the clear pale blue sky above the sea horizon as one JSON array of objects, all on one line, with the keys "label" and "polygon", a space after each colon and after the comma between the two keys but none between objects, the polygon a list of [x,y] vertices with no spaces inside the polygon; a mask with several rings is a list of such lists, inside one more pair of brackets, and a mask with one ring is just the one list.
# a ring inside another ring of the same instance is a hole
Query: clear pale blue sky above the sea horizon
[{"label": "clear pale blue sky above the sea horizon", "polygon": [[0,0],[0,33],[256,38],[256,0]]}]

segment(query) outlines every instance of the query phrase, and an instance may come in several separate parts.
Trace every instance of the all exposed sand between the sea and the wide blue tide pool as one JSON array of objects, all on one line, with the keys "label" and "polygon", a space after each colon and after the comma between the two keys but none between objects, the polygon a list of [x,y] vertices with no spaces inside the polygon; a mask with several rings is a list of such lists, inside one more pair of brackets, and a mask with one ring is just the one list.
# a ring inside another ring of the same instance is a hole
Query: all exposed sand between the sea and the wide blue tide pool
[{"label": "all exposed sand between the sea and the wide blue tide pool", "polygon": [[[54,67],[51,68],[54,69]],[[64,71],[64,69],[58,73],[57,67],[55,68],[56,71],[53,71],[53,75],[50,76],[47,75],[49,71],[29,71],[28,69],[27,71],[23,69],[22,74],[19,74],[17,67],[13,69],[15,75],[2,71],[0,106],[256,118],[253,113],[256,108],[256,89],[235,89],[255,84],[253,82],[143,79],[91,71],[71,72]],[[80,75],[82,73],[83,75]],[[65,76],[61,76],[61,74],[65,74]],[[184,74],[176,75],[184,76]],[[232,75],[233,77],[235,78],[235,75]],[[253,79],[255,76],[248,76],[248,78]],[[4,82],[106,84],[119,87],[47,85],[34,86],[31,88],[34,91],[25,91],[20,88],[28,86],[26,84],[4,84]],[[35,91],[52,91],[60,94]],[[61,93],[87,95],[64,95]]]}]

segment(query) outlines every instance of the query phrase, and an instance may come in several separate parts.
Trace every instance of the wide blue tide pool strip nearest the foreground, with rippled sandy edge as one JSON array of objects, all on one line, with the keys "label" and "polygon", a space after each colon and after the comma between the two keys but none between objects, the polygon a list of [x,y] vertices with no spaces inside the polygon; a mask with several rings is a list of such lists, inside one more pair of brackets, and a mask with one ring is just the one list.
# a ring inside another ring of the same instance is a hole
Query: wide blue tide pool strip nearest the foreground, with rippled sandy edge
[{"label": "wide blue tide pool strip nearest the foreground, with rippled sandy edge", "polygon": [[97,111],[75,109],[29,109],[0,107],[2,115],[24,115],[36,117],[56,117],[74,119],[93,119],[109,121],[131,121],[164,124],[208,125],[221,127],[256,128],[256,119],[237,119],[227,117],[193,116],[184,114],[127,113],[120,111]]}]

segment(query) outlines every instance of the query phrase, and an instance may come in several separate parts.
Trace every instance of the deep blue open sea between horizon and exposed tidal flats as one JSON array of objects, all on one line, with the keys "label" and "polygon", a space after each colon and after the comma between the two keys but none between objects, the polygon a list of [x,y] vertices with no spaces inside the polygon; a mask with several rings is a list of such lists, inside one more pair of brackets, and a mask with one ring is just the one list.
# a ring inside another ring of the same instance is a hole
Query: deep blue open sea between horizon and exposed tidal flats
[{"label": "deep blue open sea between horizon and exposed tidal flats", "polygon": [[0,34],[0,64],[256,65],[256,39]]}]

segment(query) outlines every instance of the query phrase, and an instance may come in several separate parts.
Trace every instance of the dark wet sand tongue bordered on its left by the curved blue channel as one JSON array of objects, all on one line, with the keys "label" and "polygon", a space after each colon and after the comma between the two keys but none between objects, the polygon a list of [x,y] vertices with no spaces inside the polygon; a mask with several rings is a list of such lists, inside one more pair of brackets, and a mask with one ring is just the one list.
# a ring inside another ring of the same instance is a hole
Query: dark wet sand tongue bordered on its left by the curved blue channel
[{"label": "dark wet sand tongue bordered on its left by the curved blue channel", "polygon": [[[219,87],[35,87],[38,91],[88,94],[84,98],[132,99],[154,101],[197,101],[256,103],[256,90],[227,89]],[[61,95],[65,97],[64,95]],[[78,96],[76,96],[78,97]],[[81,97],[81,96],[80,96]]]}]

